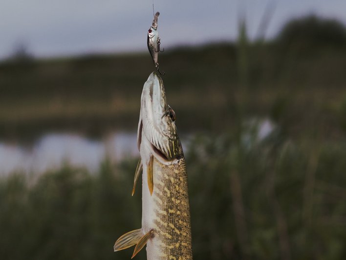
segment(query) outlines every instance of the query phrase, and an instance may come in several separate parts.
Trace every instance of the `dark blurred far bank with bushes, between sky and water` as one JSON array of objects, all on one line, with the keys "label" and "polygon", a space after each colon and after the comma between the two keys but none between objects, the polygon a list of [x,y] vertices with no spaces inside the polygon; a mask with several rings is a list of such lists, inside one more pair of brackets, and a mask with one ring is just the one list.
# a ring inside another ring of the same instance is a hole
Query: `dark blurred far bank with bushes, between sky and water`
[{"label": "dark blurred far bank with bushes, between sky and water", "polygon": [[[324,34],[331,36],[323,40]],[[272,42],[251,43],[245,35],[243,44],[166,50],[160,67],[167,72],[165,86],[179,126],[185,131],[233,127],[237,98],[246,103],[245,115],[294,120],[285,129],[295,135],[311,128],[314,116],[344,133],[345,35],[343,25],[312,17],[288,23]],[[3,62],[0,138],[135,129],[140,90],[153,70],[148,53]],[[226,110],[234,112],[227,125]]]}]

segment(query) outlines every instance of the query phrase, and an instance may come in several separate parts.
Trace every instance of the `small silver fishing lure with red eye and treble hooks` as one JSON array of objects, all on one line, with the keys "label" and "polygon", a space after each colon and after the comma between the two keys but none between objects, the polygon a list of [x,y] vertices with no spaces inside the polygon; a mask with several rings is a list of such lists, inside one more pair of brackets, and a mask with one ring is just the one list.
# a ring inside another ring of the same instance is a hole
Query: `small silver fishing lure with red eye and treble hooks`
[{"label": "small silver fishing lure with red eye and treble hooks", "polygon": [[165,72],[160,71],[158,67],[159,66],[158,53],[160,52],[160,37],[158,36],[158,31],[157,31],[157,20],[159,15],[160,15],[160,12],[156,12],[154,15],[154,19],[152,20],[152,25],[150,26],[148,30],[147,45],[148,45],[148,49],[149,49],[149,52],[150,52],[150,55],[156,70],[161,75],[165,75]]}]

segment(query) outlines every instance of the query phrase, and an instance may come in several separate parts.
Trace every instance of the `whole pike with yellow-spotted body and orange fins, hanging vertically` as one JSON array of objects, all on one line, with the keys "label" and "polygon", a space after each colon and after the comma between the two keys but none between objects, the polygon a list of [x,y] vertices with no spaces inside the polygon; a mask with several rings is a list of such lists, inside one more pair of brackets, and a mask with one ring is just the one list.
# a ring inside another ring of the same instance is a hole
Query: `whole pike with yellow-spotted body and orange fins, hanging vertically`
[{"label": "whole pike with yellow-spotted body and orange fins, hanging vertically", "polygon": [[142,172],[142,227],[120,236],[114,251],[146,245],[147,260],[192,260],[190,202],[185,157],[162,78],[143,86],[137,130],[140,151],[132,195]]}]

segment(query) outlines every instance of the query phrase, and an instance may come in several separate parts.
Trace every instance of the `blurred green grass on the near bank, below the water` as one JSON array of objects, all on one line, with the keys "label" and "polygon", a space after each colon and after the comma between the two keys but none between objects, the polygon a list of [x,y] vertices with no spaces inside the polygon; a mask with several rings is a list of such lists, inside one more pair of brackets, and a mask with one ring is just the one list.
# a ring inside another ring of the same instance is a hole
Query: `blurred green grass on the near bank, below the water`
[{"label": "blurred green grass on the near bank, below the water", "polygon": [[[274,132],[234,142],[197,136],[187,153],[195,259],[345,259],[346,142]],[[130,259],[112,252],[141,225],[136,162],[64,167],[0,181],[2,259]],[[145,250],[137,259],[146,259]]]}]

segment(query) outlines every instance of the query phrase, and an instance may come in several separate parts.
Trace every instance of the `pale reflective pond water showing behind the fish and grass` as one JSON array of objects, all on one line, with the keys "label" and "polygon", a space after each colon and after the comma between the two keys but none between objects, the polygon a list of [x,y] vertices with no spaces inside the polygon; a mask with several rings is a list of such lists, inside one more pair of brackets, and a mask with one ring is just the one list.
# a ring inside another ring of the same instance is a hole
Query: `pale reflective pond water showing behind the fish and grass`
[{"label": "pale reflective pond water showing behind the fish and grass", "polygon": [[[254,118],[246,122],[246,129],[242,139],[245,146],[251,146],[272,133],[275,125],[269,119]],[[252,131],[254,129],[255,132]],[[193,135],[180,137],[186,151]],[[66,164],[95,172],[106,157],[112,162],[139,157],[137,133],[117,132],[101,140],[90,140],[71,133],[48,133],[30,147],[0,142],[0,176],[16,171],[37,174]]]}]

